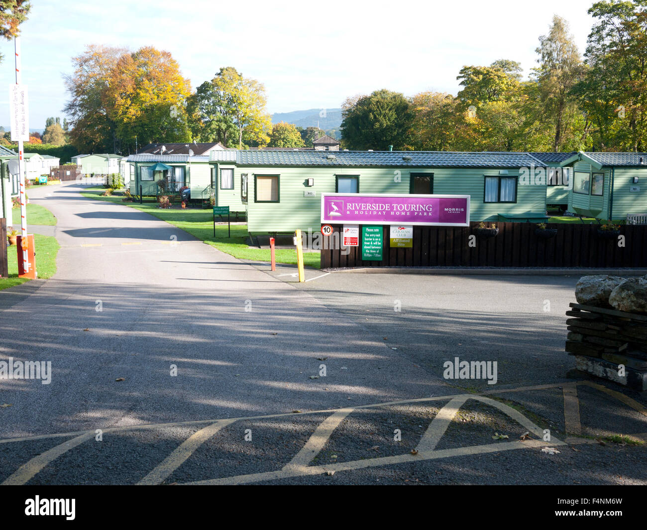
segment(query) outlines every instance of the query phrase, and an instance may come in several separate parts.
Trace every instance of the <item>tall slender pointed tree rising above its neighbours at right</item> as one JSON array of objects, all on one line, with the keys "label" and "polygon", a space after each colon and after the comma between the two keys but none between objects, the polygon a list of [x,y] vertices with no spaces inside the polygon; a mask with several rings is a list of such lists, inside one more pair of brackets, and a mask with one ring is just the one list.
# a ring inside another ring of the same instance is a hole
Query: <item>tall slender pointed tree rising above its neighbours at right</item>
[{"label": "tall slender pointed tree rising above its neighbours at right", "polygon": [[536,52],[540,65],[534,74],[544,120],[551,122],[553,130],[551,149],[560,151],[577,135],[573,126],[580,112],[571,91],[582,78],[584,68],[568,23],[562,17],[553,17],[548,35],[540,36],[539,43]]}]

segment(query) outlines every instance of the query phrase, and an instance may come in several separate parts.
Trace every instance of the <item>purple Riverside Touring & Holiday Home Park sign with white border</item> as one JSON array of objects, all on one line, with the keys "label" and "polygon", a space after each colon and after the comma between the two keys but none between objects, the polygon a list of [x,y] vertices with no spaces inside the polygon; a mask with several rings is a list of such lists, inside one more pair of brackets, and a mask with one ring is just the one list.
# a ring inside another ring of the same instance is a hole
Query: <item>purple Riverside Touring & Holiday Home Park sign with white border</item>
[{"label": "purple Riverside Touring & Holiday Home Park sign with white border", "polygon": [[469,226],[470,195],[322,193],[322,223]]}]

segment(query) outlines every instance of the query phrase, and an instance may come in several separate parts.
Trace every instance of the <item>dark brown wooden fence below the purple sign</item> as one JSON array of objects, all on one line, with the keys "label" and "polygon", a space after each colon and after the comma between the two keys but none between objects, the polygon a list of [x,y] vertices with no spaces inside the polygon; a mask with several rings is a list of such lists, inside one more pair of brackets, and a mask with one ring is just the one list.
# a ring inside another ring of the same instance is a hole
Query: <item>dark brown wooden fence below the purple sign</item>
[{"label": "dark brown wooden fence below the purple sign", "polygon": [[[390,248],[389,226],[382,227],[382,261],[362,260],[360,246],[349,247],[344,256],[337,236],[325,237],[324,245],[336,246],[321,252],[322,268],[337,267],[647,267],[647,226],[620,228],[624,247],[617,236],[598,234],[599,225],[582,223],[550,224],[554,237],[535,234],[534,223],[496,223],[495,237],[477,235],[478,223],[470,228],[414,226],[413,248]],[[341,226],[333,226],[338,233]],[[470,246],[470,236],[472,243]]]}]

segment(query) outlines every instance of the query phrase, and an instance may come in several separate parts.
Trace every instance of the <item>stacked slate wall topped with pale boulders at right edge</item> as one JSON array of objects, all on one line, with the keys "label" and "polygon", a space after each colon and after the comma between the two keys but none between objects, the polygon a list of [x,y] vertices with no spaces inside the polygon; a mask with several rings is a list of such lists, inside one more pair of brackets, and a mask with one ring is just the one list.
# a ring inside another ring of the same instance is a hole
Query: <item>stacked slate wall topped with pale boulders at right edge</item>
[{"label": "stacked slate wall topped with pale boulders at right edge", "polygon": [[[578,370],[647,390],[647,297],[643,289],[647,289],[644,277],[580,279],[575,291],[580,303],[569,304],[571,310],[566,312],[565,348],[575,356]],[[619,311],[609,301],[635,311]]]}]

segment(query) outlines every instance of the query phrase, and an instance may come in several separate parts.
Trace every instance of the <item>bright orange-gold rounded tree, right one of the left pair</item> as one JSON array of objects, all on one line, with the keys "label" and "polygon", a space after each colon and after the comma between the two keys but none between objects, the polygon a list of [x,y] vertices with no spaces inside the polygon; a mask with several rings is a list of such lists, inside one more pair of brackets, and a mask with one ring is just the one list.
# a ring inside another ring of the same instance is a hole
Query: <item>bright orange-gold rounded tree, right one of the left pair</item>
[{"label": "bright orange-gold rounded tree, right one of the left pair", "polygon": [[149,142],[188,142],[186,98],[190,82],[166,51],[142,47],[123,54],[108,78],[104,100],[124,147]]}]

